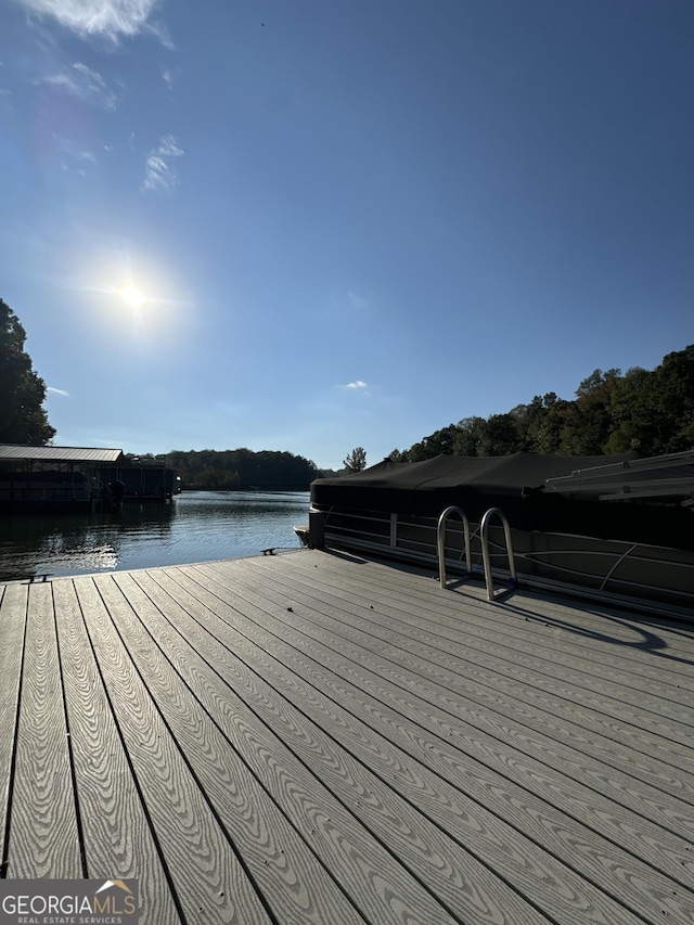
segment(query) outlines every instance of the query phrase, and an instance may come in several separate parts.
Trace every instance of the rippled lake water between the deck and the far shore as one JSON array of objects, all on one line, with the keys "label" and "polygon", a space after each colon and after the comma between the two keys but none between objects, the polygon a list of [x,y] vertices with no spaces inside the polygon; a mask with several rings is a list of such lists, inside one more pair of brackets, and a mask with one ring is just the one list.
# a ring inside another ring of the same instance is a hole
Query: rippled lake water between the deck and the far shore
[{"label": "rippled lake water between the deck and the far shore", "polygon": [[188,491],[120,514],[0,518],[0,581],[152,568],[298,549],[308,491]]}]

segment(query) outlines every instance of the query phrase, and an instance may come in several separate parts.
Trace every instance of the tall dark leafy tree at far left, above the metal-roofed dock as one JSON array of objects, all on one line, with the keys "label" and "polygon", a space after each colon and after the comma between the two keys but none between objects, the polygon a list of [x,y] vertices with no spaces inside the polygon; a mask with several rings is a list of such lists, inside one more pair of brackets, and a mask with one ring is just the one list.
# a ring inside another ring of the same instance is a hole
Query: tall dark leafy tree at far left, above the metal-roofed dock
[{"label": "tall dark leafy tree at far left, above the metal-roofed dock", "polygon": [[46,446],[55,435],[42,408],[46,383],[24,349],[26,332],[0,298],[0,442]]}]

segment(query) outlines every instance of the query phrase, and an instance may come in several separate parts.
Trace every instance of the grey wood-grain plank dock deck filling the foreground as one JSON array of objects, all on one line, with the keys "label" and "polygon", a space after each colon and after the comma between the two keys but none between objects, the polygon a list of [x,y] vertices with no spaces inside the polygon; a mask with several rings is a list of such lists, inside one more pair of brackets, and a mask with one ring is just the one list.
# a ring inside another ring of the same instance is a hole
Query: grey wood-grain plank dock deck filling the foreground
[{"label": "grey wood-grain plank dock deck filling the foreground", "polygon": [[694,922],[694,624],[297,550],[0,587],[2,876],[141,922]]}]

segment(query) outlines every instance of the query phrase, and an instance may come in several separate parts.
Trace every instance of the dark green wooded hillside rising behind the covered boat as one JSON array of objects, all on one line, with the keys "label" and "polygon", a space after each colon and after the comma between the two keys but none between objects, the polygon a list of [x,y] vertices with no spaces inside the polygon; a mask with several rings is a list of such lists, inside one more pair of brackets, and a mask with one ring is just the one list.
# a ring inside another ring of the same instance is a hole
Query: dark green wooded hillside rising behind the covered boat
[{"label": "dark green wooded hillside rising behind the covered boat", "polygon": [[653,371],[594,370],[575,395],[565,400],[550,391],[504,414],[464,417],[389,458],[419,462],[439,453],[498,457],[520,450],[561,455],[638,450],[651,457],[694,448],[694,345],[668,354]]}]

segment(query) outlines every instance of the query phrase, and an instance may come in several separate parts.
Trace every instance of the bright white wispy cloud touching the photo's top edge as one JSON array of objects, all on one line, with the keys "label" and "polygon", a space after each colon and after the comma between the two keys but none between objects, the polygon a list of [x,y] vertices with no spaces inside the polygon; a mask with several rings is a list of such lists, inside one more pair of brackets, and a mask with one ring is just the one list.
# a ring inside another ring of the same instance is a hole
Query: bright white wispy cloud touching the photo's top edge
[{"label": "bright white wispy cloud touching the photo's top edge", "polygon": [[41,18],[52,18],[82,38],[104,38],[117,44],[142,31],[170,44],[166,30],[154,17],[160,0],[15,0]]}]

